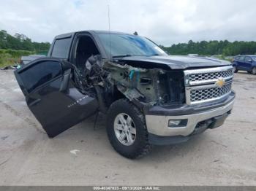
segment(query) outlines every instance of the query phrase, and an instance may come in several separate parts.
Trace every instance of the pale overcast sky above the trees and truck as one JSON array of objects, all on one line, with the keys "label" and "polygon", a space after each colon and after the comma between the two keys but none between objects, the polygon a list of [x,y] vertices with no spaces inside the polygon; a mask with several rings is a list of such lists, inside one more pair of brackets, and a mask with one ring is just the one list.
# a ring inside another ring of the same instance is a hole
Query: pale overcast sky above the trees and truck
[{"label": "pale overcast sky above the trees and truck", "polygon": [[87,29],[138,31],[165,46],[201,40],[256,40],[255,0],[1,0],[0,29],[35,42]]}]

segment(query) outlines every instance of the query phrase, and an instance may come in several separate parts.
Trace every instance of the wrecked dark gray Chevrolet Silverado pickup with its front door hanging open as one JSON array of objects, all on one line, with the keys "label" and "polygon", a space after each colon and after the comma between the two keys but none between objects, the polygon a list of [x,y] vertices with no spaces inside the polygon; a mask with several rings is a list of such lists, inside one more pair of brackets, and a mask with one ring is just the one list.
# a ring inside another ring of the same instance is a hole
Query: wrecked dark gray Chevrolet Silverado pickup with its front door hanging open
[{"label": "wrecked dark gray Chevrolet Silverado pickup with its front door hanging open", "polygon": [[110,143],[128,158],[219,127],[235,98],[229,62],[167,55],[150,39],[110,31],[56,36],[48,57],[15,77],[49,137],[102,112]]}]

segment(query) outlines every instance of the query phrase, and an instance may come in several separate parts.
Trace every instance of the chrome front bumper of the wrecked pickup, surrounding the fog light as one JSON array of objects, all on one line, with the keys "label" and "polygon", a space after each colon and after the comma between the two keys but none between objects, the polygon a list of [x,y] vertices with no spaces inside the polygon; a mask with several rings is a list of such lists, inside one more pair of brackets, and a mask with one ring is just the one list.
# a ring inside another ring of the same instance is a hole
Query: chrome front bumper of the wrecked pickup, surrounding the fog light
[{"label": "chrome front bumper of the wrecked pickup, surrounding the fog light", "polygon": [[[198,124],[200,124],[200,122],[213,122],[211,120],[229,114],[231,109],[233,108],[234,98],[235,94],[233,94],[233,97],[230,98],[230,101],[228,101],[228,103],[225,103],[225,105],[219,106],[214,109],[208,109],[203,112],[197,112],[194,114],[146,114],[146,126],[149,133],[149,140],[154,140],[155,142],[157,139],[167,139],[167,137],[169,137],[177,139],[174,142],[187,141],[187,139],[189,139],[188,136],[195,133],[195,131],[197,130],[196,127],[198,127]],[[178,128],[169,128],[167,125],[169,120],[187,120],[187,125]],[[208,124],[206,128],[210,127],[210,125],[211,124]],[[217,127],[217,125],[215,125],[214,128],[215,127]],[[172,141],[170,142],[172,143]]]}]

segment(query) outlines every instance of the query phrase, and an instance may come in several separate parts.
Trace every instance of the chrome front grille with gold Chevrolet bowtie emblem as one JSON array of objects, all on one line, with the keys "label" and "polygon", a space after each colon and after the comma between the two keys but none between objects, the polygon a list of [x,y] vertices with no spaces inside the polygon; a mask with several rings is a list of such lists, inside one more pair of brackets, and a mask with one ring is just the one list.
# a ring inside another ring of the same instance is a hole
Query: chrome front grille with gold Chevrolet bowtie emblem
[{"label": "chrome front grille with gold Chevrolet bowtie emblem", "polygon": [[187,104],[223,98],[231,91],[232,66],[184,71]]}]

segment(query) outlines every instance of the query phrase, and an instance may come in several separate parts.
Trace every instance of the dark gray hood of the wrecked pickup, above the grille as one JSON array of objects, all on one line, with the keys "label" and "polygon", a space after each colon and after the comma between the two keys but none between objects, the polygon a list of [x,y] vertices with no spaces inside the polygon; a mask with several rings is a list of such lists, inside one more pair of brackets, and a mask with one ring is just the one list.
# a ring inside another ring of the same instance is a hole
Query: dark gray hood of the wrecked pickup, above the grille
[{"label": "dark gray hood of the wrecked pickup, above the grille", "polygon": [[118,58],[118,60],[127,62],[146,62],[151,64],[156,63],[156,67],[159,64],[164,64],[169,66],[170,69],[187,69],[231,65],[230,62],[222,61],[219,59],[184,55],[129,56],[124,58]]}]

